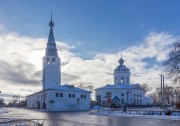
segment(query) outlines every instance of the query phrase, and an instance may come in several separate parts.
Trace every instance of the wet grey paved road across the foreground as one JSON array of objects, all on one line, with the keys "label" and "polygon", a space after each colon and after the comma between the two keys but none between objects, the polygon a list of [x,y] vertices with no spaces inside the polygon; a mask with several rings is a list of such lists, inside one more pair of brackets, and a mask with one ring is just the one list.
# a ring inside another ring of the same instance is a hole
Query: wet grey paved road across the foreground
[{"label": "wet grey paved road across the foreground", "polygon": [[7,109],[11,112],[0,114],[0,119],[39,119],[45,120],[45,126],[180,126],[180,121],[96,116],[90,115],[89,111],[40,112],[17,108]]}]

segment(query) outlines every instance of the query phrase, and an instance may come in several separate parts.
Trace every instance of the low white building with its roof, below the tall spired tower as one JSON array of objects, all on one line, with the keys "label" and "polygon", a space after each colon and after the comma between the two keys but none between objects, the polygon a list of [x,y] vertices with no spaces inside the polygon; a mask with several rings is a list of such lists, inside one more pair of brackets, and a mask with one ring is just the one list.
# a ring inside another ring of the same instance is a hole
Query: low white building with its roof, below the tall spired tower
[{"label": "low white building with its roof, below the tall spired tower", "polygon": [[27,107],[43,109],[43,103],[46,103],[46,109],[53,111],[88,110],[90,94],[73,85],[62,85],[27,96]]}]

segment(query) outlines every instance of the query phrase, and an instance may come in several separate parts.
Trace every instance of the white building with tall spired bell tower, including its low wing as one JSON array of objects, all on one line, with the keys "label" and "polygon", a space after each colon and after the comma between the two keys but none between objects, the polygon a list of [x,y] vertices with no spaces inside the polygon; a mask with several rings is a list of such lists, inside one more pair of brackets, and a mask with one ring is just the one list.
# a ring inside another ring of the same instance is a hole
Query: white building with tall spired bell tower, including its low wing
[{"label": "white building with tall spired bell tower, including its low wing", "polygon": [[49,26],[46,54],[43,57],[43,90],[27,96],[27,107],[52,111],[88,110],[90,91],[73,85],[61,85],[61,59],[58,57],[53,34],[52,16]]}]

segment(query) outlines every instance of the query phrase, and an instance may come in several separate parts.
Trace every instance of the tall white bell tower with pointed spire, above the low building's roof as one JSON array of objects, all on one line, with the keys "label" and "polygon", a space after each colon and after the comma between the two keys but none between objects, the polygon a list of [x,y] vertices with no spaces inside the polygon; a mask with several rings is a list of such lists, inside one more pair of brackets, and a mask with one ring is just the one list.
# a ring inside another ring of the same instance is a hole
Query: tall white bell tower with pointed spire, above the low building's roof
[{"label": "tall white bell tower with pointed spire, above the low building's roof", "polygon": [[53,34],[54,23],[49,22],[50,32],[47,42],[46,55],[43,57],[43,90],[61,85],[61,59],[58,57],[56,43]]}]

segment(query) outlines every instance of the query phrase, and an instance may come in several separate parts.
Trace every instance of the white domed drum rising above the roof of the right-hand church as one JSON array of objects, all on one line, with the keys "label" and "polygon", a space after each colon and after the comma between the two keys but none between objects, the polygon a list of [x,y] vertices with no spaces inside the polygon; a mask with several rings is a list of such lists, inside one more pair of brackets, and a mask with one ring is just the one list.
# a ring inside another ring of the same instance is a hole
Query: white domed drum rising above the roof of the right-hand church
[{"label": "white domed drum rising above the roof of the right-hand church", "polygon": [[130,84],[130,70],[123,65],[124,60],[119,60],[120,65],[114,70],[114,84]]}]

